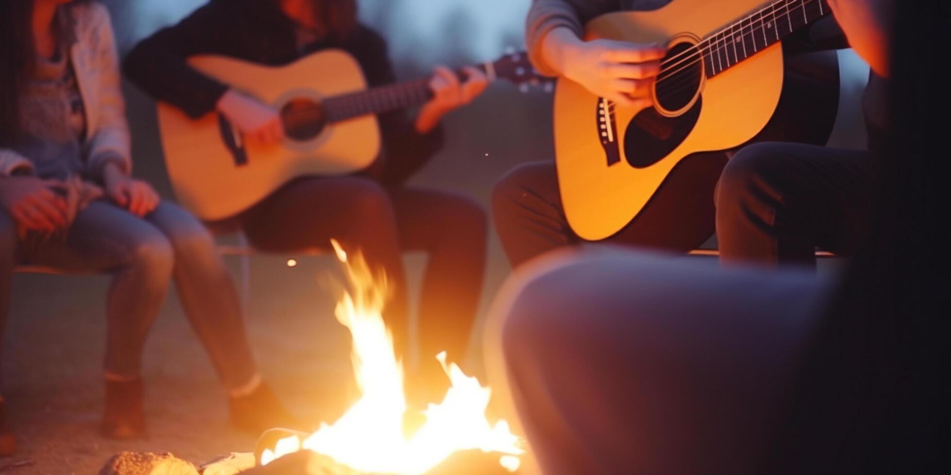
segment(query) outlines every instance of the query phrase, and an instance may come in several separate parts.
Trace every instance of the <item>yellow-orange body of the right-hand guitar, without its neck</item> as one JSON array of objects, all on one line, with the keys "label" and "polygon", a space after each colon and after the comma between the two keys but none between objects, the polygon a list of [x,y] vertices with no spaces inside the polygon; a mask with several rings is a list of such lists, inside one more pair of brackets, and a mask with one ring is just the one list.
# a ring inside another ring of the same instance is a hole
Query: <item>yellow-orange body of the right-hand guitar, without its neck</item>
[{"label": "yellow-orange body of the right-hand guitar, without its neck", "polygon": [[[589,40],[670,47],[693,44],[763,4],[764,0],[678,0],[660,10],[601,16],[587,26],[587,35]],[[583,86],[559,80],[554,100],[556,166],[574,232],[588,240],[611,237],[637,216],[685,157],[752,139],[779,103],[783,74],[783,51],[777,43],[702,80],[699,96],[674,117],[652,107],[618,107],[610,134],[620,155],[613,157],[604,142],[609,132],[598,119],[599,107],[605,104]]]}]

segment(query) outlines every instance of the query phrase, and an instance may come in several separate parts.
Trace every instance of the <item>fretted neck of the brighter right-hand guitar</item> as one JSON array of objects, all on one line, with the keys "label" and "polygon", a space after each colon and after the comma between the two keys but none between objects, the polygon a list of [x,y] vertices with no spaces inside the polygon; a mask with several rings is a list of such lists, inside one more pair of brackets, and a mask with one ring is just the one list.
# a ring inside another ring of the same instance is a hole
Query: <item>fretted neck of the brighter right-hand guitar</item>
[{"label": "fretted neck of the brighter right-hand guitar", "polygon": [[713,77],[829,14],[825,0],[779,0],[724,28],[697,47]]}]

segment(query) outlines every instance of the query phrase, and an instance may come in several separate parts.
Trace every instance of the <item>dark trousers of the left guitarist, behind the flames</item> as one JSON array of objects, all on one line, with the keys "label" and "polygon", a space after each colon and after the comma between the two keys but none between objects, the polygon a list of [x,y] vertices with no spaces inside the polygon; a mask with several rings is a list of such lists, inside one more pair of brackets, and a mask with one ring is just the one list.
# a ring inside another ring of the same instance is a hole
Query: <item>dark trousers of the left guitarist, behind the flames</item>
[{"label": "dark trousers of the left guitarist, behind the flames", "polygon": [[473,200],[419,188],[387,189],[363,177],[293,181],[246,212],[251,243],[270,252],[330,249],[330,239],[359,250],[395,284],[384,317],[399,350],[407,338],[402,251],[429,256],[419,304],[419,350],[427,372],[442,376],[435,355],[466,352],[482,290],[488,225]]}]

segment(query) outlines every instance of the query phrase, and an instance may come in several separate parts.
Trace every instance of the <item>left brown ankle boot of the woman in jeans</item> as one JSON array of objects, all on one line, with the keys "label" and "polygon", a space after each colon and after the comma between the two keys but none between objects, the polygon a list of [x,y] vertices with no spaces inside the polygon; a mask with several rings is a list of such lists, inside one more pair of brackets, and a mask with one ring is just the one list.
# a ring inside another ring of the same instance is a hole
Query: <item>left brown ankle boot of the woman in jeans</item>
[{"label": "left brown ankle boot of the woman in jeans", "polygon": [[106,410],[100,433],[107,439],[146,437],[146,414],[142,409],[142,379],[106,381]]}]

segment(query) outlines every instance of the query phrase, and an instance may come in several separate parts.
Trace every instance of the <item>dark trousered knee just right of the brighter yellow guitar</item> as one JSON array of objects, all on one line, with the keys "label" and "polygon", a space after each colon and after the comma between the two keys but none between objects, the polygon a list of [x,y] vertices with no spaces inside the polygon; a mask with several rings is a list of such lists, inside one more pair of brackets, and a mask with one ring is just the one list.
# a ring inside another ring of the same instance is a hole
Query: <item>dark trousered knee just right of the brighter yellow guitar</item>
[{"label": "dark trousered knee just right of the brighter yellow guitar", "polygon": [[817,247],[850,255],[872,209],[869,152],[758,143],[728,163],[716,192],[725,262],[815,265]]}]

